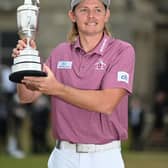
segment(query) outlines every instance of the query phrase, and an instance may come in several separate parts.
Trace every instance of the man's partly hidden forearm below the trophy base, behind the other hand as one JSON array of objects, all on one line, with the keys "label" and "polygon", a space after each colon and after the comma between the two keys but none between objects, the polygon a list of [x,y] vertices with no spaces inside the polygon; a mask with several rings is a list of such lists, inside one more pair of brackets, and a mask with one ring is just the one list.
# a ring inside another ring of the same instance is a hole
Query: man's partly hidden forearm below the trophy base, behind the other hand
[{"label": "man's partly hidden forearm below the trophy base, behind the other hand", "polygon": [[24,84],[17,84],[17,93],[20,103],[31,103],[40,95],[37,91],[31,91]]}]

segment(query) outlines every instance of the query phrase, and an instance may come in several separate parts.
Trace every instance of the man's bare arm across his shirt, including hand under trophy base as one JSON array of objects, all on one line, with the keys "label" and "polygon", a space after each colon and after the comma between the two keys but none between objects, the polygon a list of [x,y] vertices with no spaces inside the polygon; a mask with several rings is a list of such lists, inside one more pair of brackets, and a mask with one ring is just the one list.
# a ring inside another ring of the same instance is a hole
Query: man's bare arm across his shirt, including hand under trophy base
[{"label": "man's bare arm across his shirt, including hand under trophy base", "polygon": [[31,84],[41,93],[57,96],[79,108],[111,114],[127,91],[122,88],[105,90],[80,90],[65,86],[55,78],[49,67],[44,66],[47,77],[25,77],[23,83]]}]

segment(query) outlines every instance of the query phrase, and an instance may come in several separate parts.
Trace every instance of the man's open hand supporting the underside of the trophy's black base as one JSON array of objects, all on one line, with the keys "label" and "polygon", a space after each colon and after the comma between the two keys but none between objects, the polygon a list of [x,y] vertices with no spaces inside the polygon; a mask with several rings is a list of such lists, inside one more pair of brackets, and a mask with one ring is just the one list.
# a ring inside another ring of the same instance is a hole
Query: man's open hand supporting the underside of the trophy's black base
[{"label": "man's open hand supporting the underside of the trophy's black base", "polygon": [[36,90],[46,95],[56,96],[64,85],[57,81],[53,72],[45,64],[44,71],[47,73],[47,77],[24,77],[22,83],[30,90]]}]

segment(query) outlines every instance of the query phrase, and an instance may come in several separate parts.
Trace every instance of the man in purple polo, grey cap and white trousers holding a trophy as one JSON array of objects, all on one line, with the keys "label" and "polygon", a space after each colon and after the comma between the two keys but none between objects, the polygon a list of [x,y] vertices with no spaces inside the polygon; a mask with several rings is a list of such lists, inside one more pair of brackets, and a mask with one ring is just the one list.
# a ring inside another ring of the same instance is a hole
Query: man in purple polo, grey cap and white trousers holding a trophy
[{"label": "man in purple polo, grey cap and white trousers holding a trophy", "polygon": [[[51,52],[44,65],[48,76],[24,77],[18,84],[22,103],[41,93],[52,97],[57,142],[49,168],[124,167],[120,141],[128,134],[134,49],[109,35],[109,6],[110,0],[71,0],[69,42]],[[13,57],[25,46],[19,41]]]}]

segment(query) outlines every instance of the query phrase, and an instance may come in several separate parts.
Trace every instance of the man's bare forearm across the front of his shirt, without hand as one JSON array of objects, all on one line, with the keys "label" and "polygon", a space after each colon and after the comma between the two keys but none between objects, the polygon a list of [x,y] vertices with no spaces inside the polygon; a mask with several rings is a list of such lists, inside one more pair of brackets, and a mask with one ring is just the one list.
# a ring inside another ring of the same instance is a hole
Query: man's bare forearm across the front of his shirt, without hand
[{"label": "man's bare forearm across the front of his shirt, without hand", "polygon": [[64,86],[56,94],[62,100],[77,107],[111,114],[126,91],[124,89],[80,90]]}]

